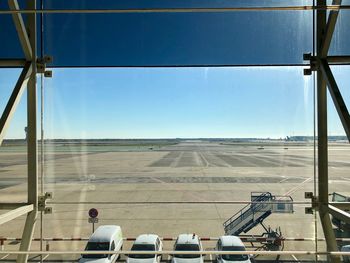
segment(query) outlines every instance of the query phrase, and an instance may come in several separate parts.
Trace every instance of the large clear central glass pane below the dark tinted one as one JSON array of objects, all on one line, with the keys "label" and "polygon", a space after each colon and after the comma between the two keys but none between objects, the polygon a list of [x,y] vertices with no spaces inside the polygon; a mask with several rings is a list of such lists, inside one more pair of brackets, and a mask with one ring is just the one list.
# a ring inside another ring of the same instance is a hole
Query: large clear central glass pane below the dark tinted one
[{"label": "large clear central glass pane below the dark tinted one", "polygon": [[[245,226],[242,238],[272,230],[314,238],[314,217],[304,212],[304,192],[314,189],[313,82],[303,68],[56,68],[53,74],[45,83],[45,191],[53,192],[55,212],[45,216],[44,236],[88,238],[94,207],[98,225],[120,225],[125,237],[217,237],[232,216],[254,211],[271,229]],[[173,248],[174,241],[164,243],[164,250]],[[56,249],[84,244],[52,242]]]}]

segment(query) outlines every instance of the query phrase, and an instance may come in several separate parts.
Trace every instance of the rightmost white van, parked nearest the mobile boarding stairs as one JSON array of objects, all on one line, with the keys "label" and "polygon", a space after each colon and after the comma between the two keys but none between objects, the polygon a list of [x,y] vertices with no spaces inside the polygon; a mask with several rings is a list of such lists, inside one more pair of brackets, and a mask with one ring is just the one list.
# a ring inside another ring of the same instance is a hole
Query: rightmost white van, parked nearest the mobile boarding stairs
[{"label": "rightmost white van, parked nearest the mobile boarding stairs", "polygon": [[[236,236],[221,236],[216,243],[217,251],[245,251],[242,240]],[[249,255],[217,255],[217,263],[251,263]]]}]

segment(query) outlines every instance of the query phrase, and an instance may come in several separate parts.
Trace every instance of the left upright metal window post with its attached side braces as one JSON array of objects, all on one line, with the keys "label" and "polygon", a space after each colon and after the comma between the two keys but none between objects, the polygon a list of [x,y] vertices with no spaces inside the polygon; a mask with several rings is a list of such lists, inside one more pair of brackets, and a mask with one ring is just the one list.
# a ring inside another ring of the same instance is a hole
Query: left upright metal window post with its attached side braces
[{"label": "left upright metal window post with its attached side braces", "polygon": [[[36,0],[26,0],[27,8],[36,9]],[[8,0],[11,10],[19,10],[17,0]],[[36,46],[36,14],[28,14],[27,22],[24,23],[22,14],[13,13],[13,22],[22,46],[25,59],[1,60],[0,65],[23,66],[22,73],[9,98],[6,108],[0,118],[0,145],[5,137],[6,130],[12,119],[21,95],[27,86],[27,203],[2,203],[0,209],[13,209],[0,216],[0,224],[13,220],[16,217],[27,214],[25,226],[20,244],[21,251],[28,251],[31,246],[34,228],[38,215],[38,152],[37,152],[37,46]],[[28,254],[19,254],[17,262],[28,261]]]}]

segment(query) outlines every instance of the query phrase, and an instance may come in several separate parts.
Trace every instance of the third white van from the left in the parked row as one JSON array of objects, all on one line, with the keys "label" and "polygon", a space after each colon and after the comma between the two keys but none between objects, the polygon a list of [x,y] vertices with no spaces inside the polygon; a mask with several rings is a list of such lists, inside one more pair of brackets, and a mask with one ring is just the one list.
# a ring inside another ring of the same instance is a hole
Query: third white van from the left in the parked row
[{"label": "third white van from the left in the parked row", "polygon": [[[195,234],[181,234],[177,237],[174,245],[175,251],[202,251],[202,243]],[[203,255],[174,254],[172,263],[203,263]]]}]

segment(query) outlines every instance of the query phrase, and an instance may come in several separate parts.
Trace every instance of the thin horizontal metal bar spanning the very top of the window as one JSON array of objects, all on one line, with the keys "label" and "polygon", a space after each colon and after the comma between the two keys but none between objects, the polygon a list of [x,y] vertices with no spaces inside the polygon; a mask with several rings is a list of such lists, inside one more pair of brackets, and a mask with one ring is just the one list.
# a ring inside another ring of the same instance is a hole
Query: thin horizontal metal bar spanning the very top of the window
[{"label": "thin horizontal metal bar spanning the very top of the window", "polygon": [[311,11],[311,10],[349,10],[350,5],[324,6],[256,6],[256,7],[208,7],[208,8],[140,8],[140,9],[22,9],[0,10],[0,14],[144,14],[144,13],[221,13],[239,11]]}]

